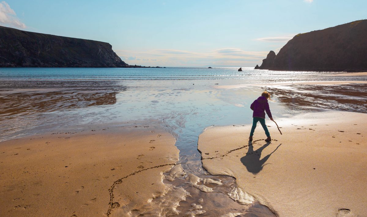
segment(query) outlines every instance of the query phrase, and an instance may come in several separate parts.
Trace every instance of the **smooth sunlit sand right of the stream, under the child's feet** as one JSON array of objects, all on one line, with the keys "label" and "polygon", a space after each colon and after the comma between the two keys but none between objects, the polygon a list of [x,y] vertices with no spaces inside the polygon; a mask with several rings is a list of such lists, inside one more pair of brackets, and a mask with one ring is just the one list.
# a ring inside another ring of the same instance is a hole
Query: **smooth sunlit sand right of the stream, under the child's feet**
[{"label": "smooth sunlit sand right of the stream, under the child's feet", "polygon": [[[367,215],[367,114],[326,111],[260,125],[215,126],[199,136],[203,166],[229,175],[278,216]],[[212,159],[210,159],[212,158]]]}]

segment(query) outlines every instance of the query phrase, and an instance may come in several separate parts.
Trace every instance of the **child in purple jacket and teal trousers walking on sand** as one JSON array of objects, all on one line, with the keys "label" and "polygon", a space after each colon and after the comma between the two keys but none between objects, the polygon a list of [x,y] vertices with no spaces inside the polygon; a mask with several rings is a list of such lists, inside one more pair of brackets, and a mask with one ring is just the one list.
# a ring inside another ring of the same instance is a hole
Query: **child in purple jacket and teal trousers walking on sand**
[{"label": "child in purple jacket and teal trousers walking on sand", "polygon": [[254,111],[254,113],[252,114],[252,117],[254,118],[254,120],[252,121],[250,137],[248,137],[249,141],[252,141],[252,136],[254,135],[256,124],[258,121],[260,122],[262,128],[264,128],[265,134],[268,137],[265,139],[265,141],[269,142],[272,140],[270,138],[269,130],[265,124],[265,111],[266,111],[266,114],[268,114],[268,117],[270,118],[270,120],[273,120],[272,113],[270,112],[270,109],[269,109],[268,99],[270,100],[270,93],[264,91],[263,93],[261,93],[261,96],[257,98],[257,100],[255,100],[250,106],[251,110]]}]

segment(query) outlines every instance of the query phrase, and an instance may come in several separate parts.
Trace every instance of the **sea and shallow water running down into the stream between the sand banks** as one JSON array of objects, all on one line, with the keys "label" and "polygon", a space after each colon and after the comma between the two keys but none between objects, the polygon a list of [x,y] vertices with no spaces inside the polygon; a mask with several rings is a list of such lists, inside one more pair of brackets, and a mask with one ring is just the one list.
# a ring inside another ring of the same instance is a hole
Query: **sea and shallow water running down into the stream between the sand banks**
[{"label": "sea and shallow water running down into the stream between the sand banks", "polygon": [[[367,112],[366,84],[215,88],[254,83],[366,80],[364,77],[316,76],[312,72],[252,69],[238,72],[233,68],[0,69],[0,79],[0,141],[59,128],[128,121],[159,123],[175,136],[175,145],[180,150],[178,163],[186,175],[223,183],[199,182],[213,190],[204,192],[191,186],[184,176],[165,180],[166,184],[181,187],[191,195],[179,203],[177,210],[181,215],[192,209],[191,204],[199,199],[205,202],[202,209],[206,213],[201,216],[221,216],[232,211],[242,216],[273,215],[256,202],[243,205],[230,198],[228,194],[236,189],[235,180],[207,174],[197,151],[198,136],[206,127],[250,124],[249,106],[262,91],[274,93],[275,102],[270,103],[270,108],[275,119],[322,109]],[[363,91],[360,93],[360,90]],[[255,134],[263,133],[257,130]],[[167,195],[158,199],[170,198]]]}]

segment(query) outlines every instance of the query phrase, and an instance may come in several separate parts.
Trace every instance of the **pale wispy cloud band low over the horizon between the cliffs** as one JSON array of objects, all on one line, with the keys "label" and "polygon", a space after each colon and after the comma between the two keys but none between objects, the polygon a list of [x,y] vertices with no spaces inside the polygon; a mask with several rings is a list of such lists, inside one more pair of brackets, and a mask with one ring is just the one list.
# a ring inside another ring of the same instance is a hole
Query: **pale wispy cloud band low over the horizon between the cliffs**
[{"label": "pale wispy cloud band low over the horizon between the cliffs", "polygon": [[144,66],[255,66],[269,51],[244,51],[239,48],[220,48],[205,52],[178,49],[149,51],[115,50],[130,65]]}]

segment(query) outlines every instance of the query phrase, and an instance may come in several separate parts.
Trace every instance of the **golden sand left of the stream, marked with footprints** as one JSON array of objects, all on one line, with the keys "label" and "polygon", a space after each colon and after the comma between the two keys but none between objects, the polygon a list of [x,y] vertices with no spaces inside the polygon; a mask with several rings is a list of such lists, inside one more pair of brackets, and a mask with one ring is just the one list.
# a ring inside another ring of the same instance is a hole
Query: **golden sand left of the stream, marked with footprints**
[{"label": "golden sand left of the stream, marked with footprints", "polygon": [[[112,130],[113,129],[113,130]],[[113,216],[165,191],[175,139],[154,126],[57,131],[0,143],[0,216]]]}]

